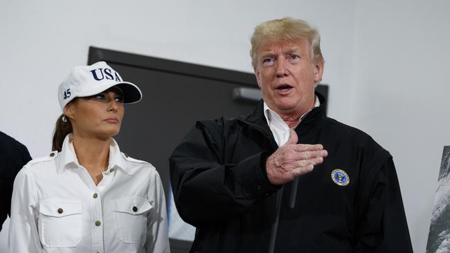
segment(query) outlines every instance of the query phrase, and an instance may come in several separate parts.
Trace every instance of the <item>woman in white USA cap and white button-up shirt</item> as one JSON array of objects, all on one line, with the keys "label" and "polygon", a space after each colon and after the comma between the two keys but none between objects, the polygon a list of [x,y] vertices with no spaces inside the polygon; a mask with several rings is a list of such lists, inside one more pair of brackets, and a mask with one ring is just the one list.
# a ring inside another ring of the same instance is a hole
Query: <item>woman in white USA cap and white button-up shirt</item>
[{"label": "woman in white USA cap and white button-up shirt", "polygon": [[105,62],[62,82],[55,151],[15,179],[10,252],[170,252],[159,174],[111,138],[141,97]]}]

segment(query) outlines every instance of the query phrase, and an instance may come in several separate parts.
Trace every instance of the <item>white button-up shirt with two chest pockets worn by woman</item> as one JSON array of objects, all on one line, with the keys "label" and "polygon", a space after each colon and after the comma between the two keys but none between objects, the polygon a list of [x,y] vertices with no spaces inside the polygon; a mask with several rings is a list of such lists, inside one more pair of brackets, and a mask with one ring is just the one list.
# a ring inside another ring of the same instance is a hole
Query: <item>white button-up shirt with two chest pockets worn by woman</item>
[{"label": "white button-up shirt with two chest pockets worn by woman", "polygon": [[170,252],[164,191],[150,163],[109,147],[109,166],[95,185],[71,143],[32,160],[15,179],[9,250]]}]

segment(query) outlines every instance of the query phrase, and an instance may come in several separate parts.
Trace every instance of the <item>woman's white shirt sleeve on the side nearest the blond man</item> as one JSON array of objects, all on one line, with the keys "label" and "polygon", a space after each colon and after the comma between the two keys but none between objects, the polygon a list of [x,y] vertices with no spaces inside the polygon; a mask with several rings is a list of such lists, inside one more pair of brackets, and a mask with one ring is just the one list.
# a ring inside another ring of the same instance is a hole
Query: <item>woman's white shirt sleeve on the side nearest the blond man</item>
[{"label": "woman's white shirt sleeve on the side nearest the blond man", "polygon": [[170,253],[168,236],[168,218],[165,208],[164,189],[155,171],[151,179],[148,195],[153,199],[153,209],[147,216],[147,241],[145,242],[145,252]]}]

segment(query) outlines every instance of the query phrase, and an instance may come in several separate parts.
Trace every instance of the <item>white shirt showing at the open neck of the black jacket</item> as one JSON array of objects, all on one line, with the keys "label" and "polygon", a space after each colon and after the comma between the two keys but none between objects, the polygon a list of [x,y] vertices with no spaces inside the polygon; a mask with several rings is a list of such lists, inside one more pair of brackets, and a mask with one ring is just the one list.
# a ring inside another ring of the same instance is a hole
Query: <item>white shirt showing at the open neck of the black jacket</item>
[{"label": "white shirt showing at the open neck of the black jacket", "polygon": [[[318,101],[318,97],[316,96],[314,106],[312,106],[311,110],[315,107],[318,107],[321,105],[321,102]],[[307,111],[304,113],[300,119],[298,119],[298,124],[305,118],[305,116],[311,111]],[[264,102],[264,117],[267,120],[267,124],[269,125],[270,130],[272,131],[273,138],[275,138],[276,144],[278,144],[278,147],[280,147],[282,144],[285,144],[287,140],[289,140],[289,126],[286,124],[284,120],[272,109],[267,106],[266,102]],[[297,125],[298,125],[297,124]],[[296,127],[293,127],[292,129],[295,129]]]}]

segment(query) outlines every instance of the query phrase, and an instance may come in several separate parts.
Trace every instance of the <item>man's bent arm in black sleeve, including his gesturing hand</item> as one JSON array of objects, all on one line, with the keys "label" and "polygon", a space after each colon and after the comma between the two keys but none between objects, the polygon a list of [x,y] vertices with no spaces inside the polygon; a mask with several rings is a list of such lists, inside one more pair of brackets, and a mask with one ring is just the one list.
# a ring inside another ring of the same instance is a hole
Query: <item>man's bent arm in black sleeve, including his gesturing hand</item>
[{"label": "man's bent arm in black sleeve, including his gesturing hand", "polygon": [[297,135],[291,131],[288,142],[275,153],[255,151],[231,164],[223,160],[227,153],[246,152],[253,140],[260,140],[247,139],[240,129],[228,129],[225,136],[219,123],[197,122],[170,157],[175,204],[181,218],[195,227],[240,215],[285,182],[312,171],[327,156],[321,144],[296,144]]}]

